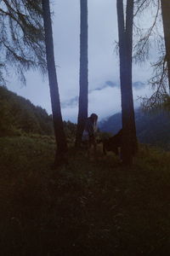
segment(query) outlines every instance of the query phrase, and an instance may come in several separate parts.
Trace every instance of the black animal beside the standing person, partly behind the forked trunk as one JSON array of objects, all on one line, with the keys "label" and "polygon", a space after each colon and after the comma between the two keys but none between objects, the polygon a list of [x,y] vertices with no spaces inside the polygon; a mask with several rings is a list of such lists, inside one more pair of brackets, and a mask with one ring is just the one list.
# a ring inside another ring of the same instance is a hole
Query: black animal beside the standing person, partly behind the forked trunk
[{"label": "black animal beside the standing person, partly behind the forked trunk", "polygon": [[103,153],[113,151],[116,155],[119,154],[119,149],[122,145],[122,129],[115,136],[103,140]]}]

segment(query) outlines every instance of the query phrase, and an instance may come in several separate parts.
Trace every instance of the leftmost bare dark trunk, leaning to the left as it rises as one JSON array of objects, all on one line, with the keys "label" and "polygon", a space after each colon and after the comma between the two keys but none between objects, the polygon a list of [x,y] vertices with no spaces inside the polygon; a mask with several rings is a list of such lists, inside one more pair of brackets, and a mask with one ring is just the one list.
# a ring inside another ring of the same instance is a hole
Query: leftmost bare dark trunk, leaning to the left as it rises
[{"label": "leftmost bare dark trunk, leaning to the left as it rises", "polygon": [[42,0],[43,22],[45,30],[45,44],[46,44],[46,58],[48,65],[48,81],[51,96],[51,105],[54,121],[54,134],[57,144],[55,164],[60,164],[65,158],[67,144],[65,139],[65,132],[63,120],[61,116],[60,102],[59,102],[59,88],[57,82],[57,73],[54,62],[54,43],[53,31],[51,24],[49,0]]}]

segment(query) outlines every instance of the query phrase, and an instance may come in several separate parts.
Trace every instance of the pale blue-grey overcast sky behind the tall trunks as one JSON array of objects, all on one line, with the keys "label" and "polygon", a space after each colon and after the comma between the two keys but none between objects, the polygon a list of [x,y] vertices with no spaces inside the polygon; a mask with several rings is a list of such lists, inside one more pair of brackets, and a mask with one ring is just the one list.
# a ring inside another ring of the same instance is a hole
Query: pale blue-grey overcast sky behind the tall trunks
[{"label": "pale blue-grey overcast sky behind the tall trunks", "polygon": [[[53,0],[54,54],[59,83],[63,119],[77,121],[79,93],[80,1]],[[117,41],[116,0],[88,1],[88,113],[99,114],[99,120],[121,110],[119,60],[115,53]],[[150,56],[152,58],[154,56]],[[133,97],[149,94],[144,85],[150,78],[149,62],[133,67]],[[31,100],[51,113],[48,77],[40,73],[26,74],[26,86],[8,78],[8,89]],[[142,86],[140,86],[142,85]]]}]

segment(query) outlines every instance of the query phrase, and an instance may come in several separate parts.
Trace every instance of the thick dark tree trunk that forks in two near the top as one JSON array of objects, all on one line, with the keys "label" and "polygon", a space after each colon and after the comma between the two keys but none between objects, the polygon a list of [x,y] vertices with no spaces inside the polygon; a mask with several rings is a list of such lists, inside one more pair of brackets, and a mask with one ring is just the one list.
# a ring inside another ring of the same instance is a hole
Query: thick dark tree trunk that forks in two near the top
[{"label": "thick dark tree trunk that forks in two near the top", "polygon": [[122,95],[122,161],[132,165],[137,150],[132,90],[133,0],[127,0],[126,23],[122,0],[117,0],[116,8]]}]

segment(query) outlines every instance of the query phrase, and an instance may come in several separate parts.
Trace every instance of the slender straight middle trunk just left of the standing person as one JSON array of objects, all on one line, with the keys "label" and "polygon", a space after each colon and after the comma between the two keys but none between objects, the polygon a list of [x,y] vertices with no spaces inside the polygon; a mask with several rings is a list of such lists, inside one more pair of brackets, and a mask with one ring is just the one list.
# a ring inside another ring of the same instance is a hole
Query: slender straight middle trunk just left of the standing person
[{"label": "slender straight middle trunk just left of the standing person", "polygon": [[81,143],[85,121],[88,118],[88,0],[80,0],[80,11],[80,91],[76,146]]}]

